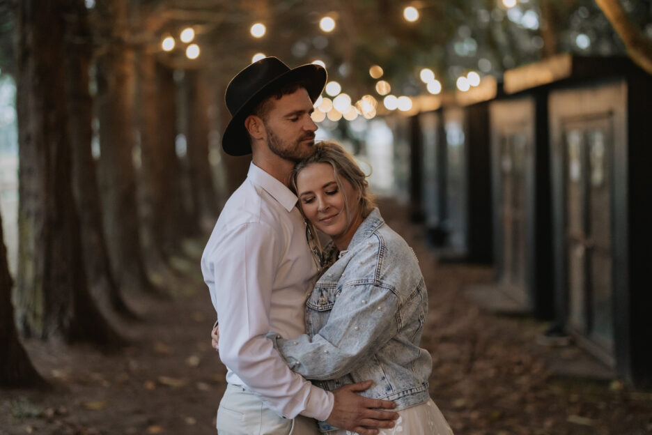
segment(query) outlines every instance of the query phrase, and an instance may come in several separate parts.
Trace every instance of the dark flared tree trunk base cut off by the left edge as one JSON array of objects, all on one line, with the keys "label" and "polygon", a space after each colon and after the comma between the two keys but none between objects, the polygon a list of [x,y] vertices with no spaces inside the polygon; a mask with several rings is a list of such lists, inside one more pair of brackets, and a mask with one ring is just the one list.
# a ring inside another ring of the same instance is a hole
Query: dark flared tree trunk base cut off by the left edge
[{"label": "dark flared tree trunk base cut off by the left edge", "polygon": [[0,386],[24,387],[45,383],[40,377],[18,340],[11,305],[11,287],[7,250],[2,234],[0,217]]}]

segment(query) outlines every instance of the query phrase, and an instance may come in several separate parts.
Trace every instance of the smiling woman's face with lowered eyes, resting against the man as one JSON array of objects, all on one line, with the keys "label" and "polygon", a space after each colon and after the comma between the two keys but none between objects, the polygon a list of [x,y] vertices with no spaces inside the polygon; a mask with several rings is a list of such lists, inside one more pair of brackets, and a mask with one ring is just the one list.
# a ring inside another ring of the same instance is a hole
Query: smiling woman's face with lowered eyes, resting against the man
[{"label": "smiling woman's face with lowered eyes, resting against the man", "polygon": [[313,163],[297,175],[297,192],[304,215],[323,233],[331,236],[335,245],[346,249],[358,227],[361,217],[357,192],[341,178],[348,199],[351,219],[344,206],[344,195],[335,181],[333,167],[329,163]]}]

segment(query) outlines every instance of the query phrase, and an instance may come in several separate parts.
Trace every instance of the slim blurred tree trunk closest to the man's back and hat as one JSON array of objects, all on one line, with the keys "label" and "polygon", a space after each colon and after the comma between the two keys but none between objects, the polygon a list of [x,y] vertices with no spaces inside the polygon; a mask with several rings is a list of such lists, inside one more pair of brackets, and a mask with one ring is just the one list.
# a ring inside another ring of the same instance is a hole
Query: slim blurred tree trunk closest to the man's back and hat
[{"label": "slim blurred tree trunk closest to the man's back and hat", "polygon": [[188,166],[192,201],[201,226],[212,227],[217,219],[219,198],[212,181],[212,169],[208,162],[208,89],[203,70],[186,70],[186,114]]}]

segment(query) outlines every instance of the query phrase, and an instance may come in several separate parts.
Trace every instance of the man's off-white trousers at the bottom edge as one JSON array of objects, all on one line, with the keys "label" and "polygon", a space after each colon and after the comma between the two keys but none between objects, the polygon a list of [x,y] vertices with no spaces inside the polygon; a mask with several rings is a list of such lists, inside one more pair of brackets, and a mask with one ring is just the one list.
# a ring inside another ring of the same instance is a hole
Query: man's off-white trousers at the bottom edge
[{"label": "man's off-white trousers at the bottom edge", "polygon": [[219,435],[318,435],[317,422],[298,415],[289,419],[268,409],[253,392],[230,383],[217,409]]}]

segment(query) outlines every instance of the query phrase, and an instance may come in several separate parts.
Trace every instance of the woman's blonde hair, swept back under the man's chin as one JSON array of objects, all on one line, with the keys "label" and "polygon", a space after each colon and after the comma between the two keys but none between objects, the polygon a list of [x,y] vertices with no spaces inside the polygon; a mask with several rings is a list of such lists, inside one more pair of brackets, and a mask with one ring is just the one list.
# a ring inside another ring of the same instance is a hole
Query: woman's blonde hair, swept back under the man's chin
[{"label": "woman's blonde hair, swept back under the man's chin", "polygon": [[373,194],[369,192],[369,183],[366,181],[366,175],[355,160],[353,160],[353,156],[336,142],[318,142],[315,145],[315,153],[295,165],[290,176],[290,187],[295,192],[298,193],[297,176],[299,176],[299,173],[303,169],[314,163],[327,163],[333,167],[335,182],[339,191],[343,194],[344,206],[349,220],[352,219],[352,216],[348,210],[348,198],[346,197],[346,190],[344,190],[344,186],[342,185],[342,179],[348,181],[352,185],[353,190],[355,190],[362,211],[362,218],[364,219],[371,213],[373,208],[375,208],[375,201]]}]

